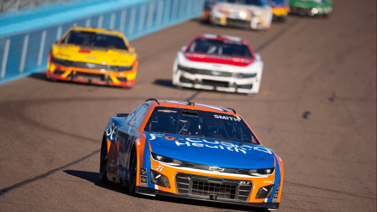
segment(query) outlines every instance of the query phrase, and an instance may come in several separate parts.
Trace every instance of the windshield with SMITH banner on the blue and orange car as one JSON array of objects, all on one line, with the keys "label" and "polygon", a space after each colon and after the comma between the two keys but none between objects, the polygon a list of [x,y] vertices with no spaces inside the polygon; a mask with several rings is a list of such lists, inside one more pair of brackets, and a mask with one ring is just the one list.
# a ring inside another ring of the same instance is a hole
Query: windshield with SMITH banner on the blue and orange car
[{"label": "windshield with SMITH banner on the blue and orange car", "polygon": [[241,117],[216,112],[156,107],[149,117],[144,131],[259,144]]}]

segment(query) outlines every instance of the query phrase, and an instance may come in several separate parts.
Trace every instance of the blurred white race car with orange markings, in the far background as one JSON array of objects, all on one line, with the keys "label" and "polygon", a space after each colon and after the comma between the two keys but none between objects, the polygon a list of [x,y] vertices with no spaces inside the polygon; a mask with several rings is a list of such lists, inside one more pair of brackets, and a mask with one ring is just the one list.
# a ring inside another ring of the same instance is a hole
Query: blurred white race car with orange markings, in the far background
[{"label": "blurred white race car with orange markings, in the far background", "polygon": [[271,27],[273,12],[264,0],[222,0],[213,6],[210,23],[266,30]]}]

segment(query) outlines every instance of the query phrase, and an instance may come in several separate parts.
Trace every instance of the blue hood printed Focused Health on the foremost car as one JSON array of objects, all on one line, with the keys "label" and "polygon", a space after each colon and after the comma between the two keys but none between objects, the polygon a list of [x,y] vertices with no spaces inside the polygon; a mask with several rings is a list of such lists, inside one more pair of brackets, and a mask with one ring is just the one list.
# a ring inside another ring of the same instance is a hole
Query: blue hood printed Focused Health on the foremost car
[{"label": "blue hood printed Focused Health on the foremost car", "polygon": [[270,149],[256,144],[167,133],[148,133],[152,152],[166,157],[221,167],[274,167]]}]

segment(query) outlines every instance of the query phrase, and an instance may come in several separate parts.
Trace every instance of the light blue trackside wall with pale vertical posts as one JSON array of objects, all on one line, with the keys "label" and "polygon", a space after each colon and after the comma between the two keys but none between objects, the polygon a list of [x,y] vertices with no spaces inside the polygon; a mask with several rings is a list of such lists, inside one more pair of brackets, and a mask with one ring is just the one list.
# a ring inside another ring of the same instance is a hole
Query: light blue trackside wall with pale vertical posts
[{"label": "light blue trackside wall with pale vertical posts", "polygon": [[117,30],[130,41],[203,8],[204,0],[120,0],[0,26],[0,83],[46,70],[51,45],[72,26]]}]

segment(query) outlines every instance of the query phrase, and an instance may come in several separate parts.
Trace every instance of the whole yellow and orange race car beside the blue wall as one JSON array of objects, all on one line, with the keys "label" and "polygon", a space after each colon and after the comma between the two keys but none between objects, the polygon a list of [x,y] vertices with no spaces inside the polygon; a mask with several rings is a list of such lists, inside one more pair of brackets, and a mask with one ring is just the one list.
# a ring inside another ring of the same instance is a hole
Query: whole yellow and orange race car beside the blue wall
[{"label": "whole yellow and orange race car beside the blue wall", "polygon": [[121,32],[73,27],[51,47],[47,78],[132,88],[135,49]]}]

